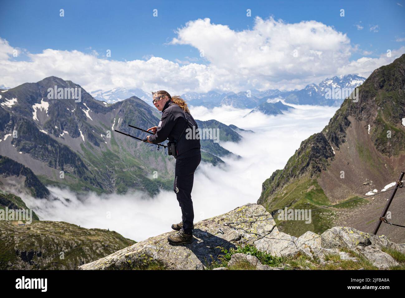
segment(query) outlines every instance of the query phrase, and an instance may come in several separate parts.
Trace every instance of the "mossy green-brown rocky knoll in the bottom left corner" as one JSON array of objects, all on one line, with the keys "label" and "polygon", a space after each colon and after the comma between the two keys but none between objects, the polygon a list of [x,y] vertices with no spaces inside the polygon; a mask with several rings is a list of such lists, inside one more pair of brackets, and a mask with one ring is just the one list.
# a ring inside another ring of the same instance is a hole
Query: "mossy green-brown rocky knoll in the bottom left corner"
[{"label": "mossy green-brown rocky knoll in the bottom left corner", "polygon": [[67,222],[0,220],[0,269],[74,270],[135,241]]}]

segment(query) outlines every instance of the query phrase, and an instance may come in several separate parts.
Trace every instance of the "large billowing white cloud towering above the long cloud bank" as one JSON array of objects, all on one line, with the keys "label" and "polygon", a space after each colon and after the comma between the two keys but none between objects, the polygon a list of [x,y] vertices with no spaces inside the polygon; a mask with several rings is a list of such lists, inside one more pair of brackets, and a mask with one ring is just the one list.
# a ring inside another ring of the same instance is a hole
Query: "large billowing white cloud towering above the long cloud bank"
[{"label": "large billowing white cloud towering above the long cloud bank", "polygon": [[246,87],[325,76],[350,57],[346,34],[317,21],[290,24],[256,17],[252,30],[237,32],[205,18],[189,21],[177,35],[172,44],[195,47],[211,66],[241,78]]}]

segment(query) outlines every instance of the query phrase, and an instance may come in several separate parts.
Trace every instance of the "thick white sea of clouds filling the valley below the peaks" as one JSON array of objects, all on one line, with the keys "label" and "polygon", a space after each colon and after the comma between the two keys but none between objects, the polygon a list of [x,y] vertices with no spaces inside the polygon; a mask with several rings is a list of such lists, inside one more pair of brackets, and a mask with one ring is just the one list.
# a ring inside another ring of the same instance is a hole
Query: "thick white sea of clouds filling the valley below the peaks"
[{"label": "thick white sea of clouds filling the valley below the peaks", "polygon": [[[240,155],[240,159],[223,157],[226,165],[221,167],[200,163],[192,190],[194,223],[246,203],[256,203],[264,180],[276,169],[283,169],[301,142],[321,131],[337,110],[337,107],[291,106],[295,109],[284,115],[257,112],[244,118],[249,109],[190,108],[196,119],[216,119],[254,131],[241,132],[243,139],[239,143],[220,140],[221,146]],[[171,224],[181,221],[181,210],[173,191],[162,190],[155,197],[140,191],[102,195],[89,192],[78,197],[68,189],[49,187],[49,190],[56,197],[68,200],[44,204],[41,199],[20,194],[41,220],[115,230],[135,241],[168,232]]]}]

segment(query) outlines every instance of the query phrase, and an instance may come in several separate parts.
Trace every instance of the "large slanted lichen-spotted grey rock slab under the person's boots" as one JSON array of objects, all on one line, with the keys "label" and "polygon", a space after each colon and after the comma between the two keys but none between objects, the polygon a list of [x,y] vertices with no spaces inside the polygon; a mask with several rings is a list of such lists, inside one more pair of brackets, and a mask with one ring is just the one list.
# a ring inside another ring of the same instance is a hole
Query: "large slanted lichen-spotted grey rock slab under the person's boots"
[{"label": "large slanted lichen-spotted grey rock slab under the person's boots", "polygon": [[[167,232],[148,238],[94,262],[79,266],[80,269],[130,269],[145,262],[158,262],[167,269],[203,269],[211,260],[223,254],[220,247],[235,248],[237,244],[253,243],[262,236],[277,232],[274,220],[232,224],[271,218],[262,205],[248,203],[242,207],[194,224],[194,242],[171,245]],[[220,232],[220,228],[223,234]],[[212,256],[212,259],[211,259]]]}]

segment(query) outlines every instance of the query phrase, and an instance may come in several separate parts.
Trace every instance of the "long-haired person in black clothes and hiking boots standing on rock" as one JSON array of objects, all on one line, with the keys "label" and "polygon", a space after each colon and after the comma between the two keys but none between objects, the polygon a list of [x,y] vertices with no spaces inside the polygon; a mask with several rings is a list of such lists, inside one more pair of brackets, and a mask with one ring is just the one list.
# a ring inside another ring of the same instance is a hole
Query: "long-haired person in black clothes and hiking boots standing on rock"
[{"label": "long-haired person in black clothes and hiking boots standing on rock", "polygon": [[[174,232],[168,236],[172,244],[192,243],[194,231],[194,209],[191,190],[194,182],[194,171],[201,161],[200,137],[198,133],[186,137],[186,128],[198,132],[198,126],[190,114],[186,102],[179,96],[170,96],[164,90],[152,92],[153,104],[162,112],[159,125],[149,128],[154,135],[148,135],[145,142],[159,144],[169,139],[168,146],[176,159],[175,181],[173,191],[181,207],[181,222],[172,224]],[[193,129],[192,127],[195,127]],[[190,134],[187,134],[188,136]]]}]

